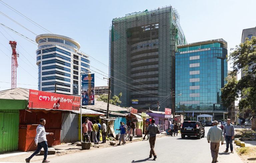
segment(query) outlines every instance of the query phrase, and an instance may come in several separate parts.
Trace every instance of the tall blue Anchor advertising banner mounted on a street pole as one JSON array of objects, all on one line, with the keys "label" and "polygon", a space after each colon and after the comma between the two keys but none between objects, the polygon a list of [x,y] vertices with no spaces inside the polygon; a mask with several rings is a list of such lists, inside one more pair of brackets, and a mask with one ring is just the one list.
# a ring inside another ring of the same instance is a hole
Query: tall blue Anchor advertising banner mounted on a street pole
[{"label": "tall blue Anchor advertising banner mounted on a street pole", "polygon": [[82,105],[94,105],[94,74],[82,75]]}]

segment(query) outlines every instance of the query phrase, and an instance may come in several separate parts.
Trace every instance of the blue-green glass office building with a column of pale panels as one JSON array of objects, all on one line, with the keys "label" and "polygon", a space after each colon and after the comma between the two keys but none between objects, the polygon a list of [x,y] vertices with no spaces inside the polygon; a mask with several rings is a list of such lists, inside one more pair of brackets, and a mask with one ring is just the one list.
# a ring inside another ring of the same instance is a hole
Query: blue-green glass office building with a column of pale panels
[{"label": "blue-green glass office building with a column of pale panels", "polygon": [[[207,114],[213,120],[227,118],[221,104],[221,88],[227,77],[227,42],[223,39],[178,45],[175,54],[175,112],[185,120]],[[193,114],[194,113],[194,114]]]}]

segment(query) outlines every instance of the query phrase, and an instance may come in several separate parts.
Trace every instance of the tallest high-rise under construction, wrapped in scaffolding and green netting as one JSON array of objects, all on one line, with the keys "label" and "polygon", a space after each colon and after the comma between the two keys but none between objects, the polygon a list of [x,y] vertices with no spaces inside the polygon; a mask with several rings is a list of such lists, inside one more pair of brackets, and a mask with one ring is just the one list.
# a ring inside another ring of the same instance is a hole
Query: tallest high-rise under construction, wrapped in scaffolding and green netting
[{"label": "tallest high-rise under construction, wrapped in scaffolding and green netting", "polygon": [[109,34],[111,96],[121,106],[171,108],[175,88],[175,51],[186,43],[179,14],[172,6],[115,18]]}]

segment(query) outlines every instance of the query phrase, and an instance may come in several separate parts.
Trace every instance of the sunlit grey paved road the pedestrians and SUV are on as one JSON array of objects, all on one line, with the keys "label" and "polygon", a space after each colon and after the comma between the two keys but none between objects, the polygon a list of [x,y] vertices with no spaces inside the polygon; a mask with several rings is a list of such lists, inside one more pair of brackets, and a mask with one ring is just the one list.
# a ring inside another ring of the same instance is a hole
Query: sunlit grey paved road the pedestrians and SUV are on
[{"label": "sunlit grey paved road the pedestrians and SUV are on", "polygon": [[[205,127],[207,134],[210,127]],[[219,162],[242,163],[236,153],[224,153],[225,144],[220,147]],[[140,141],[127,145],[113,146],[96,150],[83,150],[78,153],[71,153],[59,157],[49,158],[51,162],[111,162],[111,163],[132,163],[132,162],[152,162],[149,156],[149,142]],[[196,139],[196,137],[186,137],[182,139],[178,136],[168,136],[156,139],[155,151],[157,153],[156,162],[196,162],[210,163],[210,144],[206,137]],[[39,161],[36,161],[39,162]],[[41,162],[41,161],[40,161]],[[154,161],[153,161],[154,162]]]}]

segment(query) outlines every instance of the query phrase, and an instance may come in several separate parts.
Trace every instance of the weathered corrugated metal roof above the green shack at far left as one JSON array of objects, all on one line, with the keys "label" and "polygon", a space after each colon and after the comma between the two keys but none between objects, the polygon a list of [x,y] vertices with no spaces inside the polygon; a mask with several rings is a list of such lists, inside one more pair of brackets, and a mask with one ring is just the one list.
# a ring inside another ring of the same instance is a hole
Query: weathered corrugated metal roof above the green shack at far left
[{"label": "weathered corrugated metal roof above the green shack at far left", "polygon": [[0,99],[28,100],[29,89],[15,88],[0,91]]}]

